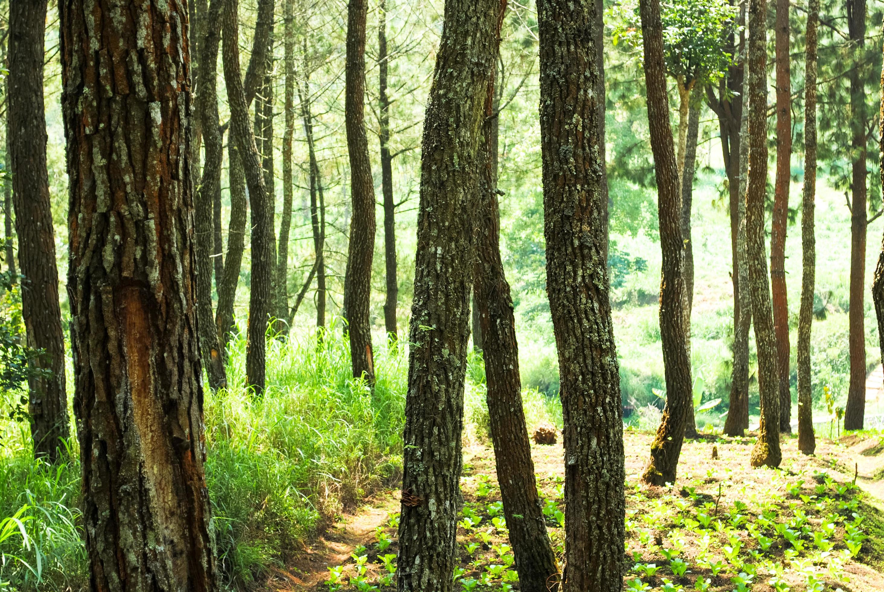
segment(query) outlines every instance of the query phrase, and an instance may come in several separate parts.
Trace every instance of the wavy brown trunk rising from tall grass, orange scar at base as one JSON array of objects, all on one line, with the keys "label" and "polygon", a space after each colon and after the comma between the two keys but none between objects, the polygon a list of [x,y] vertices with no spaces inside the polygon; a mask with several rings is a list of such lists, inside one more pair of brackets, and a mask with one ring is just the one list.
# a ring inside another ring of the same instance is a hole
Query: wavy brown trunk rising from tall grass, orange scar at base
[{"label": "wavy brown trunk rising from tall grass, orange scar at base", "polygon": [[350,336],[353,375],[375,381],[371,355],[371,263],[375,253],[375,185],[371,179],[369,140],[365,135],[365,20],[366,0],[347,5],[347,73],[345,123],[350,155],[350,195],[353,217],[344,277],[344,317]]}]

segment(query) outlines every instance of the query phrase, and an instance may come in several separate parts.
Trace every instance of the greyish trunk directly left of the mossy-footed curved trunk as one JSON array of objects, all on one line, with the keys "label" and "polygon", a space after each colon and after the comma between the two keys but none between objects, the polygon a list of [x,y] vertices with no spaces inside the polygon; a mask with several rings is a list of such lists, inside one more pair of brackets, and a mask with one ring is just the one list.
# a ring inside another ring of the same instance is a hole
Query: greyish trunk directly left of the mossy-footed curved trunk
[{"label": "greyish trunk directly left of the mossy-footed curved trunk", "polygon": [[[743,53],[745,64],[745,53]],[[744,85],[741,84],[741,88]],[[749,331],[752,324],[752,300],[749,285],[749,260],[746,258],[746,181],[749,169],[749,111],[750,104],[743,103],[740,121],[740,149],[736,159],[738,169],[735,188],[736,219],[734,254],[734,289],[736,296],[734,318],[734,366],[731,373],[730,405],[728,419],[725,420],[724,433],[743,435],[749,427]],[[733,199],[734,196],[731,196]],[[734,212],[733,207],[731,212]],[[733,232],[733,231],[732,231]]]}]

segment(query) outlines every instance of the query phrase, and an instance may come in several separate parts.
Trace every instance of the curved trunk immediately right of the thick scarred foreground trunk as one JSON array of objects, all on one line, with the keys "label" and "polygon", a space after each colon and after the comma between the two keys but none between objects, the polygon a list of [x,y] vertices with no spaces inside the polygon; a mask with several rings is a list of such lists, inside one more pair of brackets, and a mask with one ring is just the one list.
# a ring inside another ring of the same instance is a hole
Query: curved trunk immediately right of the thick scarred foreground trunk
[{"label": "curved trunk immediately right of the thick scarred foreground trunk", "polygon": [[220,15],[223,0],[212,0],[206,15],[206,27],[200,42],[199,91],[196,96],[197,116],[202,122],[206,148],[202,182],[194,196],[194,236],[196,254],[196,314],[200,319],[200,353],[202,365],[209,376],[212,390],[226,385],[225,357],[221,354],[214,316],[212,314],[212,261],[215,237],[212,229],[214,203],[221,195],[221,163],[224,146],[218,122],[217,61],[220,41]]}]

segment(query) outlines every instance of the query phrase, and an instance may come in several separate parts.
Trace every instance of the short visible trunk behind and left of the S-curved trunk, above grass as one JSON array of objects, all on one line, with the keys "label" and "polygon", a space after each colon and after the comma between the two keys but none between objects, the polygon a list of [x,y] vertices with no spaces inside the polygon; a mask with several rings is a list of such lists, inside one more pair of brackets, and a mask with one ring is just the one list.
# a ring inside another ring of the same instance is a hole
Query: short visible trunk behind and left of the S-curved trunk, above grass
[{"label": "short visible trunk behind and left of the S-curved trunk, above grass", "polygon": [[248,219],[245,171],[242,168],[240,150],[236,147],[232,134],[227,140],[227,163],[227,176],[230,179],[230,226],[227,227],[227,257],[221,284],[218,287],[218,310],[215,315],[222,351],[227,350],[230,334],[236,328],[233,321],[233,303],[236,301],[236,287],[240,282]]}]

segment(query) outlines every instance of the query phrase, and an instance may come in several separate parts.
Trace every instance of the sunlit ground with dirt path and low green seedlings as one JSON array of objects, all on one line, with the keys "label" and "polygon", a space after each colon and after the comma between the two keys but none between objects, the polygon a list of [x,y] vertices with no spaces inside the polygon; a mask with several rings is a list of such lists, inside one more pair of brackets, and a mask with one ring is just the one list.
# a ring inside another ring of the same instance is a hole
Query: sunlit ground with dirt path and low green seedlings
[{"label": "sunlit ground with dirt path and low green seedlings", "polygon": [[[818,434],[810,457],[798,452],[795,437],[784,438],[778,471],[751,468],[751,435],[686,442],[678,485],[650,488],[638,478],[652,434],[627,431],[624,589],[884,590],[884,438],[834,435]],[[561,556],[561,444],[532,444],[532,452],[552,545]],[[463,472],[454,589],[517,590],[492,449],[465,446]],[[339,516],[260,589],[394,590],[399,506],[399,491],[386,490]]]}]

